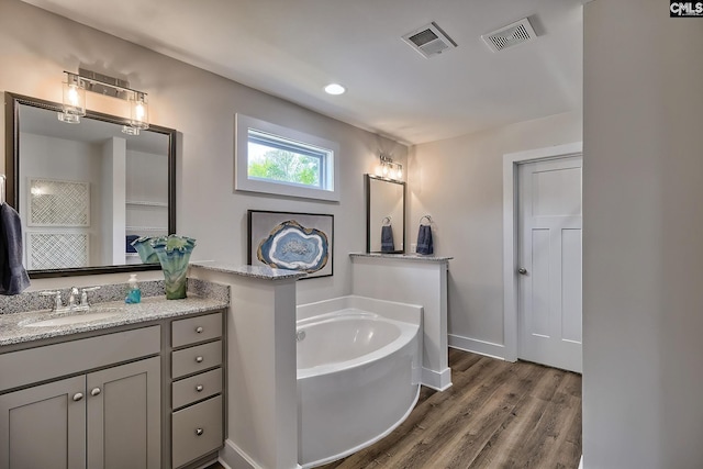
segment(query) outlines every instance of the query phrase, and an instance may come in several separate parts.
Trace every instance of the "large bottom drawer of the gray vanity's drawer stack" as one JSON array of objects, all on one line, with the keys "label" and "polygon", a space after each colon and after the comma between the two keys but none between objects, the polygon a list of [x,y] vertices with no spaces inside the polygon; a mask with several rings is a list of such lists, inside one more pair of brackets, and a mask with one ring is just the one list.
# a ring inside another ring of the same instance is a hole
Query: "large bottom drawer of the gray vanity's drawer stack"
[{"label": "large bottom drawer of the gray vanity's drawer stack", "polygon": [[222,446],[222,397],[174,412],[172,467],[180,467]]}]

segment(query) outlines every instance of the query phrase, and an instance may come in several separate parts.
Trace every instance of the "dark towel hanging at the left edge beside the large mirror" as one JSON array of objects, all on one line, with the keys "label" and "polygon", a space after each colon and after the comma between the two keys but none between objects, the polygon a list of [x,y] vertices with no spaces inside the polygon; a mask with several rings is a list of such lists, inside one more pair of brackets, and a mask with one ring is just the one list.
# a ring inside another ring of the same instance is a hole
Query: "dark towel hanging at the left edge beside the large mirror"
[{"label": "dark towel hanging at the left edge beside the large mirror", "polygon": [[22,223],[13,208],[0,205],[0,294],[18,294],[30,286],[22,266]]}]

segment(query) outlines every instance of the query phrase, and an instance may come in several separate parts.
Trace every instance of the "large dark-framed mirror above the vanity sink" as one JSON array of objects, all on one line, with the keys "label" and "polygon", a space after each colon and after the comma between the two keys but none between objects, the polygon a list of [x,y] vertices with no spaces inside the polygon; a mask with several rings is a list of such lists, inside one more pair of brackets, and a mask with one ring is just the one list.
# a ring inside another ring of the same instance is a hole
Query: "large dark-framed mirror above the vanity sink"
[{"label": "large dark-framed mirror above the vanity sink", "polygon": [[176,233],[176,131],[5,92],[5,202],[22,220],[30,278],[157,270],[130,242]]}]

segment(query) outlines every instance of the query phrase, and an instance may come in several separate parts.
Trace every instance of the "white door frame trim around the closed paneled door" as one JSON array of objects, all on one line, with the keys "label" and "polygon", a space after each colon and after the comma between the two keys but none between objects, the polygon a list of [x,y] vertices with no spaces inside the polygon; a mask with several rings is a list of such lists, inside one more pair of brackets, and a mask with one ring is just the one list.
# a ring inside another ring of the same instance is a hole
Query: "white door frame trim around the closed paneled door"
[{"label": "white door frame trim around the closed paneled door", "polygon": [[503,155],[503,358],[517,361],[517,165],[583,156],[583,142]]}]

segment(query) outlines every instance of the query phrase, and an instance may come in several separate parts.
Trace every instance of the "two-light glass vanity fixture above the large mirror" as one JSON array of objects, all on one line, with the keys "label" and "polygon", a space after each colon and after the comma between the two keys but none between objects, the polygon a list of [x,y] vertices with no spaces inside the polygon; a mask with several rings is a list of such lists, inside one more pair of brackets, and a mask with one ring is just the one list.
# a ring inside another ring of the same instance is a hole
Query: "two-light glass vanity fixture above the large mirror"
[{"label": "two-light glass vanity fixture above the large mirror", "polygon": [[58,120],[71,124],[80,123],[86,115],[86,91],[109,96],[126,101],[130,104],[130,120],[122,126],[129,135],[140,135],[140,131],[149,127],[149,109],[146,93],[130,88],[130,82],[94,71],[78,69],[78,74],[64,71],[64,109]]}]

